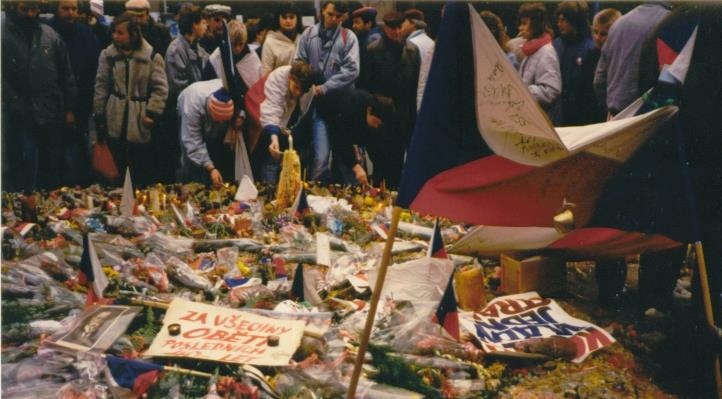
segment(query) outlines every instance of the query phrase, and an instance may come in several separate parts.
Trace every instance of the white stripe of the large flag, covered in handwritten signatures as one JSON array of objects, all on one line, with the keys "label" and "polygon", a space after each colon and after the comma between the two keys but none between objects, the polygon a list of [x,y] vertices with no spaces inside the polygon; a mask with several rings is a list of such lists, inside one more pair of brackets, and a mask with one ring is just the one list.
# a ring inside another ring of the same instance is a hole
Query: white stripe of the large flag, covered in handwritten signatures
[{"label": "white stripe of the large flag, covered in handwritten signatures", "polygon": [[555,128],[479,14],[470,18],[477,127],[499,156],[543,166],[589,150],[623,162],[677,111],[667,106],[634,116],[635,105],[613,121]]}]

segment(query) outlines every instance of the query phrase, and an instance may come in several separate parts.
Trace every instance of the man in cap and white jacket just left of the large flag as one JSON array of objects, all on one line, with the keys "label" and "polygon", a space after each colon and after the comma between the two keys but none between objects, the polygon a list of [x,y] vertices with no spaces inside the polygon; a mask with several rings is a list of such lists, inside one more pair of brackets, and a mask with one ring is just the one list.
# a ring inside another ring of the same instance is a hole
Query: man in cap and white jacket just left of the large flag
[{"label": "man in cap and white jacket just left of the large flag", "polygon": [[421,56],[419,66],[419,78],[416,87],[416,111],[421,108],[421,99],[426,89],[426,79],[431,69],[431,59],[434,57],[436,45],[426,34],[426,22],[424,13],[415,8],[404,12],[404,22],[401,24],[401,35],[406,39],[407,45],[415,46]]}]

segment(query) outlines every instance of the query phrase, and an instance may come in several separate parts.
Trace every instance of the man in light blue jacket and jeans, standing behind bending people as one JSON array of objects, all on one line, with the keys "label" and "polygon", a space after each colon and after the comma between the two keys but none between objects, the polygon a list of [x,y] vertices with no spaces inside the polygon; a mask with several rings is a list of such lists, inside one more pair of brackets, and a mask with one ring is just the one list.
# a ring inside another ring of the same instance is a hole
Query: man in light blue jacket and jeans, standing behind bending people
[{"label": "man in light blue jacket and jeans, standing behind bending people", "polygon": [[[341,26],[347,12],[345,3],[325,1],[321,7],[321,22],[307,28],[298,43],[295,60],[306,62],[323,74],[323,84],[313,87],[317,97],[323,97],[332,89],[353,87],[359,76],[358,39],[353,31]],[[308,178],[325,184],[328,182],[331,144],[326,122],[315,109],[312,112],[312,160]]]}]

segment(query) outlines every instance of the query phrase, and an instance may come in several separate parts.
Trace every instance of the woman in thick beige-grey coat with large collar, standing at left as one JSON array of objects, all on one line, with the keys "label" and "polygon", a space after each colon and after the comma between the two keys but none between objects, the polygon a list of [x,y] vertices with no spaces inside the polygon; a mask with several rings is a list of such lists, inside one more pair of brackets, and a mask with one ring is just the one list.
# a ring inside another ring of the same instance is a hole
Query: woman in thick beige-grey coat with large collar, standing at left
[{"label": "woman in thick beige-grey coat with large collar, standing at left", "polygon": [[128,166],[137,184],[151,184],[151,129],[168,97],[165,62],[143,39],[134,16],[116,17],[110,30],[113,44],[100,54],[95,78],[98,140],[108,141],[121,174]]}]

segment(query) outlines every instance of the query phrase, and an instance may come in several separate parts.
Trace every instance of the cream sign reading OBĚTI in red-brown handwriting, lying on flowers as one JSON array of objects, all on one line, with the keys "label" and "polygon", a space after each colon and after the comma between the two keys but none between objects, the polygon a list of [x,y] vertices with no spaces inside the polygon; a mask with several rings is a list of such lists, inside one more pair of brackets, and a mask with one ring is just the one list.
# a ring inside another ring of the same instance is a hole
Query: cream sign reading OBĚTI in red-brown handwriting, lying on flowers
[{"label": "cream sign reading OB\u011aTI in red-brown handwriting, lying on flowers", "polygon": [[[180,325],[170,335],[168,326]],[[301,343],[303,320],[277,320],[249,312],[174,299],[163,328],[144,357],[186,357],[257,366],[286,366]],[[278,338],[269,345],[269,336]]]}]

